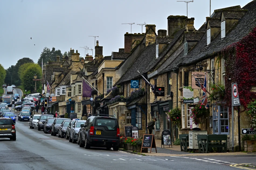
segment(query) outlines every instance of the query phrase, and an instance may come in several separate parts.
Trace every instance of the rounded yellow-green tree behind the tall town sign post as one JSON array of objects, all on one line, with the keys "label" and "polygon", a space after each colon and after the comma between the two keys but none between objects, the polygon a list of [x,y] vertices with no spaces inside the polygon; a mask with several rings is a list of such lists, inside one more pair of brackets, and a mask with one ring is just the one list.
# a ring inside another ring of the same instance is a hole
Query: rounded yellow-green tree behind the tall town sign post
[{"label": "rounded yellow-green tree behind the tall town sign post", "polygon": [[[36,63],[25,63],[22,66],[20,66],[18,75],[21,79],[21,84],[25,90],[34,90],[34,80],[33,76],[37,75],[37,79],[41,79],[42,77],[42,69],[41,67]],[[37,89],[41,85],[40,81],[36,81],[36,87]]]}]

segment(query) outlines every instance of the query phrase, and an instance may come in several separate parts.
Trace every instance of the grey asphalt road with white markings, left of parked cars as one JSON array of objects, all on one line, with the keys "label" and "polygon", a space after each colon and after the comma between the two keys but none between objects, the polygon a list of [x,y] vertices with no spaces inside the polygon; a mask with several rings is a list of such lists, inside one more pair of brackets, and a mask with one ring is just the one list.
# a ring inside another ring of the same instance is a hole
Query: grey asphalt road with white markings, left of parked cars
[{"label": "grey asphalt road with white markings, left of parked cars", "polygon": [[[17,89],[15,89],[17,90]],[[19,90],[17,90],[19,93]],[[16,93],[16,92],[15,92]],[[20,91],[21,93],[21,91]],[[28,122],[17,121],[16,141],[0,139],[0,170],[66,170],[66,169],[237,169],[230,165],[256,162],[253,154],[160,157],[143,156],[106,148],[85,149],[66,139],[29,128]],[[250,169],[245,167],[244,169]]]}]

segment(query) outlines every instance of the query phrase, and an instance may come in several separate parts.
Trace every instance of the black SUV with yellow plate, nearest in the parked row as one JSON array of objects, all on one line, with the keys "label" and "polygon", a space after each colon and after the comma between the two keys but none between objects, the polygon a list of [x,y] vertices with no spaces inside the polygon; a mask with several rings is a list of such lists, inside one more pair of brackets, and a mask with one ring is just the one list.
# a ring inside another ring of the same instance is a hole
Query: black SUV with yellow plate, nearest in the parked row
[{"label": "black SUV with yellow plate, nearest in the parked row", "polygon": [[81,124],[80,147],[113,147],[119,149],[120,129],[117,119],[111,115],[90,116],[85,124]]}]

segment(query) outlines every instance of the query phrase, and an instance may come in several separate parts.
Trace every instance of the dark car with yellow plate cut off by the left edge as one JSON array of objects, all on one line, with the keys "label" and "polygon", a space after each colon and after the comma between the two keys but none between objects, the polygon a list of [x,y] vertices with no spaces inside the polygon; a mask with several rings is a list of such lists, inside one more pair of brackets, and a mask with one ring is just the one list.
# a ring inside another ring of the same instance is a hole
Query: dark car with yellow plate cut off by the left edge
[{"label": "dark car with yellow plate cut off by the left edge", "polygon": [[16,129],[11,118],[0,118],[0,138],[16,140]]}]

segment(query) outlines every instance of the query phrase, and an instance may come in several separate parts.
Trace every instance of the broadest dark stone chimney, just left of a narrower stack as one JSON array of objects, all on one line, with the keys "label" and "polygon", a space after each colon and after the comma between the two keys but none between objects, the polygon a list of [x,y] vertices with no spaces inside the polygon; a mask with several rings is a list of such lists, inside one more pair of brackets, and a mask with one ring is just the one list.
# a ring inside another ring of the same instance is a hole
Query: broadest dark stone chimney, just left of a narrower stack
[{"label": "broadest dark stone chimney, just left of a narrower stack", "polygon": [[179,29],[185,27],[185,19],[188,17],[180,15],[170,15],[167,17],[168,20],[168,36],[172,37]]}]

